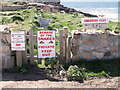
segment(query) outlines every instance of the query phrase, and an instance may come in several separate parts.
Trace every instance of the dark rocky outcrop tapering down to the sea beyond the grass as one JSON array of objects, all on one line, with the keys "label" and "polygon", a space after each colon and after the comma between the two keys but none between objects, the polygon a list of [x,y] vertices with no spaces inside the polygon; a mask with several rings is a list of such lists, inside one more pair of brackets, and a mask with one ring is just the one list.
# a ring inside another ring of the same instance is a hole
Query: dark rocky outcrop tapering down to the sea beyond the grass
[{"label": "dark rocky outcrop tapering down to the sea beyond the grass", "polygon": [[88,14],[88,13],[83,13],[81,11],[77,11],[74,8],[68,8],[65,7],[64,5],[61,5],[60,3],[29,3],[28,6],[36,6],[42,10],[45,11],[51,11],[51,12],[60,12],[60,11],[64,11],[66,13],[80,13],[83,14],[86,17],[97,17],[97,15],[92,15],[92,14]]}]

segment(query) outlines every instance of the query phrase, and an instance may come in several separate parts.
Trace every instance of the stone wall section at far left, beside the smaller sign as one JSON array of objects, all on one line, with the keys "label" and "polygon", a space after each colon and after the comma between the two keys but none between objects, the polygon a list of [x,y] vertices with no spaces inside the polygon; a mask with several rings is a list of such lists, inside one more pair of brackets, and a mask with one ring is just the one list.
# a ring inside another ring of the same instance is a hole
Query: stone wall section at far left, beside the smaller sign
[{"label": "stone wall section at far left, beside the smaller sign", "polygon": [[14,67],[14,57],[12,55],[11,49],[10,49],[10,34],[8,33],[2,33],[2,38],[0,40],[1,43],[1,59],[0,62],[2,62],[2,69],[5,68],[11,68]]}]

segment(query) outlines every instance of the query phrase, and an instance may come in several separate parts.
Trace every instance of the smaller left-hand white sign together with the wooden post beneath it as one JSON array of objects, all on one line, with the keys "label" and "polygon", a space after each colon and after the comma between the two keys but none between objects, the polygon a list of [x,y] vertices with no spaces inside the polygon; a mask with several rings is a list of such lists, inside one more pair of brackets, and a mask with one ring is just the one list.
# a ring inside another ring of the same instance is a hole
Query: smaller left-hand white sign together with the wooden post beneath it
[{"label": "smaller left-hand white sign together with the wooden post beneath it", "polygon": [[22,51],[25,51],[25,31],[11,32],[11,50],[16,51],[17,66],[22,65]]}]

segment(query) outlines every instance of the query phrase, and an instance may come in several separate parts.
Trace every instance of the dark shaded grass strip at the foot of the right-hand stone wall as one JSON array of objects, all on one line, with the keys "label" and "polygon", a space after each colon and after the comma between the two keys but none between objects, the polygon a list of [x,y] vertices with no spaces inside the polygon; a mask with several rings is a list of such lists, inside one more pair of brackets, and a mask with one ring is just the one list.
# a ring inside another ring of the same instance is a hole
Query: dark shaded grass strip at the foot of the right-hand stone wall
[{"label": "dark shaded grass strip at the foot of the right-hand stone wall", "polygon": [[78,67],[85,68],[87,70],[87,75],[101,75],[101,73],[106,72],[112,77],[120,76],[119,58],[111,60],[75,61],[72,63],[64,64],[65,69],[67,70],[70,65],[77,65]]}]

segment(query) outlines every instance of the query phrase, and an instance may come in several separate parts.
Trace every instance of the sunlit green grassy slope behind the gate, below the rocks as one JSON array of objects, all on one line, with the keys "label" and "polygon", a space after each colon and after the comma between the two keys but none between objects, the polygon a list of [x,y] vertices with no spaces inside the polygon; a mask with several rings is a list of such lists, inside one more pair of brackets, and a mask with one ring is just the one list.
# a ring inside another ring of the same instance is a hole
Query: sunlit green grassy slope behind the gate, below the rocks
[{"label": "sunlit green grassy slope behind the gate, below the rocks", "polygon": [[[11,22],[20,21],[18,26],[10,27],[10,30],[15,29],[23,29],[23,30],[41,30],[39,28],[39,15],[42,15],[44,18],[50,19],[49,27],[63,29],[64,26],[68,26],[69,30],[74,30],[77,27],[81,27],[81,19],[83,17],[82,14],[74,13],[74,14],[67,14],[64,12],[48,12],[48,11],[41,11],[36,9],[35,7],[28,7],[28,9],[18,10],[13,13],[3,14],[4,17],[11,18]],[[6,22],[6,21],[2,21]],[[15,23],[15,22],[14,22]],[[4,24],[4,23],[3,23]],[[18,24],[18,23],[15,23]]]}]

